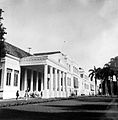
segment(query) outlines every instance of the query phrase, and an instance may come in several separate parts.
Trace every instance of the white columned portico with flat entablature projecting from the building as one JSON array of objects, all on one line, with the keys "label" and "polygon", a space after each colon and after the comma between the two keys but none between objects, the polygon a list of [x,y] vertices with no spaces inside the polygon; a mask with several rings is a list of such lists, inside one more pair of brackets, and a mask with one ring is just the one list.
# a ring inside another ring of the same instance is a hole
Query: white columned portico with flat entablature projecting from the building
[{"label": "white columned portico with flat entablature projecting from the building", "polygon": [[22,58],[20,91],[42,92],[43,98],[66,97],[66,68],[48,56]]}]

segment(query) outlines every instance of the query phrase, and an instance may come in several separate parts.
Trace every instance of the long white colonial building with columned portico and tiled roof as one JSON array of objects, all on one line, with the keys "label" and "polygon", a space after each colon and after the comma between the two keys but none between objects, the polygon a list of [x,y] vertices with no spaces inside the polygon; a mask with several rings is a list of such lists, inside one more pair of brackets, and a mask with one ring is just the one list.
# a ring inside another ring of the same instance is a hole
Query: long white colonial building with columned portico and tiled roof
[{"label": "long white colonial building with columned portico and tiled roof", "polygon": [[7,42],[5,48],[6,56],[0,61],[0,98],[15,98],[17,90],[21,97],[26,90],[41,93],[43,98],[83,94],[81,69],[60,51],[31,55]]}]

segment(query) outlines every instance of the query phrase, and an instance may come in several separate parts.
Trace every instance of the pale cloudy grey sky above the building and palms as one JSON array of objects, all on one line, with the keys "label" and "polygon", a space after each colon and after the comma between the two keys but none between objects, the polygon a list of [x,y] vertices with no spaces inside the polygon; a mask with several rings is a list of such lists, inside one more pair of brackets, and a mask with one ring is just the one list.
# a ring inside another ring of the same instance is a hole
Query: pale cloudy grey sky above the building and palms
[{"label": "pale cloudy grey sky above the building and palms", "polygon": [[0,0],[6,41],[31,53],[60,50],[78,65],[118,56],[118,0]]}]

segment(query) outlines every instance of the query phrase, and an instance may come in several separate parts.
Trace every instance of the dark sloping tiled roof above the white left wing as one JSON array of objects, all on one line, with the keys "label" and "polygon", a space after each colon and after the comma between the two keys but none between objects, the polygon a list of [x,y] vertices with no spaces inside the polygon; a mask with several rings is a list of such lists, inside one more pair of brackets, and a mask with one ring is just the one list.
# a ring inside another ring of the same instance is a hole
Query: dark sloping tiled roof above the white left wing
[{"label": "dark sloping tiled roof above the white left wing", "polygon": [[13,46],[7,42],[5,42],[5,49],[6,49],[7,54],[13,55],[18,58],[31,56],[31,54],[29,54],[28,52],[25,52],[24,50],[22,50],[16,46]]}]

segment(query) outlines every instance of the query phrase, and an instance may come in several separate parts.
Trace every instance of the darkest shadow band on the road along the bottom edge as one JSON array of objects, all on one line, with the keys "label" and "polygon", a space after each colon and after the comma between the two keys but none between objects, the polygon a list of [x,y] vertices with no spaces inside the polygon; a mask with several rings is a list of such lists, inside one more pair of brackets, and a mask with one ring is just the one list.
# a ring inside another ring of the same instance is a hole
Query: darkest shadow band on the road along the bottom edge
[{"label": "darkest shadow band on the road along the bottom edge", "polygon": [[100,120],[103,114],[89,112],[29,112],[11,109],[0,110],[0,120]]}]

